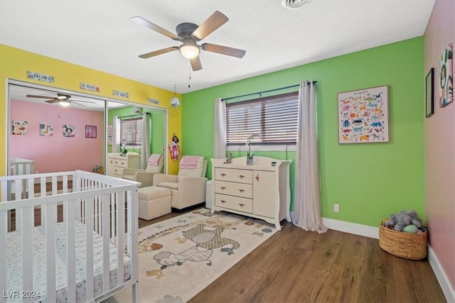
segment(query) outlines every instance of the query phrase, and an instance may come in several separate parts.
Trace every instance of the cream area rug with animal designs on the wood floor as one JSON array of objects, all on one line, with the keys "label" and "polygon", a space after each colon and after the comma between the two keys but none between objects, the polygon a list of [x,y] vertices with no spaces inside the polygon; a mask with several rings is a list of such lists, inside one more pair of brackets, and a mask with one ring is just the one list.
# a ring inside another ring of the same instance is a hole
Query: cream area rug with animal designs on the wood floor
[{"label": "cream area rug with animal designs on the wood floor", "polygon": [[[198,209],[139,229],[139,302],[187,302],[276,232],[272,224]],[[104,302],[131,302],[131,287]]]}]

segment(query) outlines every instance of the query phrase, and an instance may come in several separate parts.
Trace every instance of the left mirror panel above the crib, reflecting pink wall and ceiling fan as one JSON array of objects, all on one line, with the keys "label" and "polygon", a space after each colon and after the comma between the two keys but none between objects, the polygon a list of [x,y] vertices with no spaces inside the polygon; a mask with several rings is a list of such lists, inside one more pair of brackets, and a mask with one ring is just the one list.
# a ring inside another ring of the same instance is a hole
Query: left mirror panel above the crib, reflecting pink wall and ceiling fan
[{"label": "left mirror panel above the crib, reflecting pink wall and ceiling fan", "polygon": [[8,175],[103,165],[104,111],[104,100],[9,84]]}]

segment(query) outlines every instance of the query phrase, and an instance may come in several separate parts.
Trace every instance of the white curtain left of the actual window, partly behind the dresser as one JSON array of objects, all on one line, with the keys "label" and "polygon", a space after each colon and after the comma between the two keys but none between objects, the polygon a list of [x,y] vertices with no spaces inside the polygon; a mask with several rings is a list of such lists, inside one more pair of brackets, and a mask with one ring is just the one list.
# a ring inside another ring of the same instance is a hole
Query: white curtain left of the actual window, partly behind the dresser
[{"label": "white curtain left of the actual window, partly behind the dresser", "polygon": [[215,100],[215,135],[213,142],[213,158],[226,157],[226,102],[220,98]]}]

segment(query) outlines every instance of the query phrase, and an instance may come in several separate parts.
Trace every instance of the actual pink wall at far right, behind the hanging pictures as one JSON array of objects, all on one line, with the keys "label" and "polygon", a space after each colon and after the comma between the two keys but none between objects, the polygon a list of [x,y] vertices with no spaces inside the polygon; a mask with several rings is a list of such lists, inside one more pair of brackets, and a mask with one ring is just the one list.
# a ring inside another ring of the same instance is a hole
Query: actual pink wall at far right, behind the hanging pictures
[{"label": "actual pink wall at far right, behind the hanging pictures", "polygon": [[[437,0],[424,35],[424,70],[434,67],[434,115],[425,119],[425,212],[429,246],[455,290],[455,101],[439,108],[438,57],[455,50],[455,1]],[[455,60],[452,60],[454,62]],[[455,72],[455,68],[453,69]]]}]

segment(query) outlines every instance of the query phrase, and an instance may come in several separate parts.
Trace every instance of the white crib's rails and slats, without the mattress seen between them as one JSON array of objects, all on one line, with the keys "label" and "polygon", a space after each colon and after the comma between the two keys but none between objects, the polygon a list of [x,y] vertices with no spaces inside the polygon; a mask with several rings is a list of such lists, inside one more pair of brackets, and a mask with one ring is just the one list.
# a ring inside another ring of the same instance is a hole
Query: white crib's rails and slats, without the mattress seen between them
[{"label": "white crib's rails and slats, without the mattress seen between them", "polygon": [[[35,191],[35,184],[40,184]],[[125,285],[134,288],[138,280],[137,255],[137,187],[139,183],[77,170],[36,175],[0,177],[0,289],[6,290],[6,234],[15,218],[16,231],[21,232],[23,290],[33,290],[33,226],[45,228],[46,294],[47,302],[55,301],[55,224],[58,209],[67,224],[68,243],[68,302],[75,302],[75,219],[85,224],[87,245],[86,298],[94,298],[93,285],[93,232],[102,236],[103,274],[102,296],[116,291],[109,285],[109,243],[117,247],[117,289]],[[11,190],[14,189],[14,190]],[[48,190],[50,189],[50,190]],[[41,222],[35,220],[41,212]],[[126,217],[125,217],[126,213]],[[73,237],[73,238],[71,238]],[[131,259],[131,279],[124,284],[124,253]],[[6,298],[0,297],[0,302]],[[24,299],[23,302],[28,302]],[[31,301],[30,301],[31,302]]]}]

